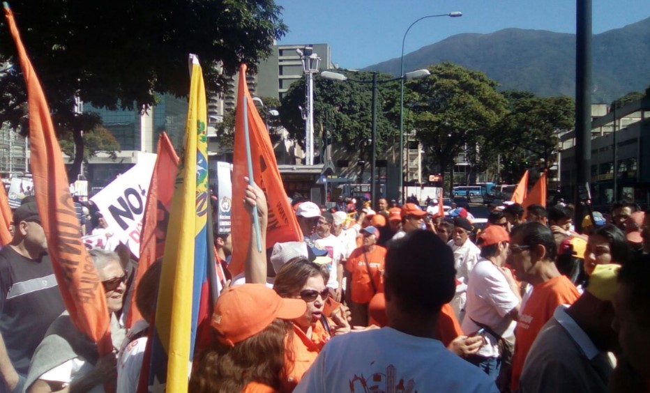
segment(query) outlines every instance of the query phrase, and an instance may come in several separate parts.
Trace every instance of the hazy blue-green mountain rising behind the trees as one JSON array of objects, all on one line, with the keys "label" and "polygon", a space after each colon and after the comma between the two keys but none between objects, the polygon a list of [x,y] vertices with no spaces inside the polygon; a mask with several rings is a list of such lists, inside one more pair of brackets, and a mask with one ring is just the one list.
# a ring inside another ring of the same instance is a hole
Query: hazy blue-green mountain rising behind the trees
[{"label": "hazy blue-green mountain rising behind the trees", "polygon": [[[611,102],[650,85],[650,17],[621,29],[596,34],[591,99]],[[499,88],[536,95],[575,95],[575,34],[504,29],[490,34],[464,33],[405,54],[405,72],[451,61],[481,70]],[[400,58],[365,70],[400,74]]]}]

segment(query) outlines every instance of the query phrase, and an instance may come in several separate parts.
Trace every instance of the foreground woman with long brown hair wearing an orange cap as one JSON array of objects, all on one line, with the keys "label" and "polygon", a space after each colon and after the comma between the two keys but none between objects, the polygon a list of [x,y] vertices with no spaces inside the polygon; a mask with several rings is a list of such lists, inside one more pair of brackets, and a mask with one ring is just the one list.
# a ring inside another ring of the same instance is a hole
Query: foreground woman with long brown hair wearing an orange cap
[{"label": "foreground woman with long brown hair wearing an orange cap", "polygon": [[301,299],[283,299],[264,284],[224,291],[212,316],[218,343],[192,373],[190,392],[290,392],[285,358],[290,320],[305,314]]}]

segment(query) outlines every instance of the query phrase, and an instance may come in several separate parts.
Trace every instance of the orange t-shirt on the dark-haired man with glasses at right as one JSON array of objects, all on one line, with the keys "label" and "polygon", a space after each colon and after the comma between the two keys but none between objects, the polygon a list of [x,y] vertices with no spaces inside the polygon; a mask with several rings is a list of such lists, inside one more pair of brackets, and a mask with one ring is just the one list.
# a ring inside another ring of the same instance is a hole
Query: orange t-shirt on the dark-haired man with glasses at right
[{"label": "orange t-shirt on the dark-haired man with glasses at right", "polygon": [[528,302],[520,311],[515,327],[515,354],[513,355],[513,378],[511,390],[519,389],[519,378],[524,369],[524,360],[533,341],[544,324],[553,316],[559,305],[570,305],[580,297],[572,282],[564,275],[553,277],[533,287]]}]

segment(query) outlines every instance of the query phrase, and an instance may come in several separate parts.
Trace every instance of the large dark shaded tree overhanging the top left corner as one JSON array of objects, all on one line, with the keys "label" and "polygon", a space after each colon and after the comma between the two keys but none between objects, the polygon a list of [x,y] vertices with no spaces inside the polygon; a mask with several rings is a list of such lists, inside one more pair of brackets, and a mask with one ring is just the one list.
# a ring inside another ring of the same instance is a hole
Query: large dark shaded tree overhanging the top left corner
[{"label": "large dark shaded tree overhanging the top left corner", "polygon": [[[52,112],[71,125],[77,144],[75,165],[83,159],[75,97],[94,107],[144,110],[155,93],[188,93],[188,54],[202,62],[206,88],[217,93],[240,63],[252,72],[268,56],[287,26],[273,0],[143,1],[24,0],[13,4],[22,39],[45,89]],[[0,64],[16,64],[16,51],[4,22]],[[220,73],[220,69],[223,73]],[[24,102],[12,91],[20,72],[6,72],[0,93],[0,121],[17,125]],[[89,130],[89,128],[86,128]],[[76,176],[75,176],[76,177]]]}]

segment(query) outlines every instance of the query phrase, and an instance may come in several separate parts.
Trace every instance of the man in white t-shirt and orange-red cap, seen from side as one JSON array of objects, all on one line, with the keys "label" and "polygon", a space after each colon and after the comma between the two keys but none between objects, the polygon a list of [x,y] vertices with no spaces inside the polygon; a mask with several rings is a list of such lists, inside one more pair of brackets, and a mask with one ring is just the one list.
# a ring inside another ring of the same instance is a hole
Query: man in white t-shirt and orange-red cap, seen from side
[{"label": "man in white t-shirt and orange-red cap, seen from side", "polygon": [[472,335],[483,329],[485,340],[478,353],[465,359],[496,379],[501,367],[497,343],[499,337],[513,334],[521,298],[512,272],[504,267],[510,242],[508,231],[503,226],[488,226],[477,242],[481,260],[469,273],[462,331]]}]

